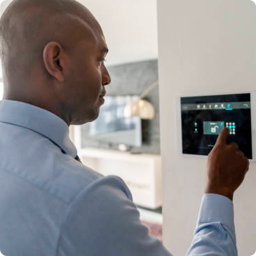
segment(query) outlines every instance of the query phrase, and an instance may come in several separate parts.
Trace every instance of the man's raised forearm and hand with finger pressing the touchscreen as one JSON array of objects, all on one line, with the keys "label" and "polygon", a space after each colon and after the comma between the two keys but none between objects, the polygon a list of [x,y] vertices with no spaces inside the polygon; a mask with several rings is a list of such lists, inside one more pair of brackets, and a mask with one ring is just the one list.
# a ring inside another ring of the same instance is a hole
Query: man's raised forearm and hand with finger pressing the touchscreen
[{"label": "man's raised forearm and hand with finger pressing the touchscreen", "polygon": [[227,137],[229,129],[225,128],[208,156],[206,195],[187,256],[237,255],[232,200],[248,171],[249,161],[236,143],[227,144]]}]

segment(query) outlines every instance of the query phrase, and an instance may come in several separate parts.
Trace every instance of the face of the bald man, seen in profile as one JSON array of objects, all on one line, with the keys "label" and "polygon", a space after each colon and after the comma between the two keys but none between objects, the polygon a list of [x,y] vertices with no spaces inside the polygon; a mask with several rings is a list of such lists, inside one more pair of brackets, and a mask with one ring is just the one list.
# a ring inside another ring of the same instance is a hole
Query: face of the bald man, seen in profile
[{"label": "face of the bald man, seen in profile", "polygon": [[72,124],[79,125],[97,119],[104,104],[105,86],[111,79],[104,64],[107,45],[103,34],[79,41],[69,59],[67,81],[67,111]]}]

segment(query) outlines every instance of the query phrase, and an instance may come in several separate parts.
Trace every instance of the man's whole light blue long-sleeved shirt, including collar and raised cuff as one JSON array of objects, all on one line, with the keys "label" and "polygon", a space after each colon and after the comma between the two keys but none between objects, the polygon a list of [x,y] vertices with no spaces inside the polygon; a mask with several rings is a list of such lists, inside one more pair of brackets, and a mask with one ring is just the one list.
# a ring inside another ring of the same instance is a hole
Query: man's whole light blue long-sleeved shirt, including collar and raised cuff
[{"label": "man's whole light blue long-sleeved shirt, including collar and raised cuff", "polygon": [[[126,184],[76,161],[67,123],[0,102],[0,255],[170,256],[140,223]],[[206,195],[188,255],[236,255],[233,205]]]}]

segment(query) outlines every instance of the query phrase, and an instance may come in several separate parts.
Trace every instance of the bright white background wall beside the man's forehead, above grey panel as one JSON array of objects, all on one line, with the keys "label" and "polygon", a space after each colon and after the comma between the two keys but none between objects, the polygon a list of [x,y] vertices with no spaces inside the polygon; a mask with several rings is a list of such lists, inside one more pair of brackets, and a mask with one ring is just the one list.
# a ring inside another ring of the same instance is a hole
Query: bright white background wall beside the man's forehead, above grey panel
[{"label": "bright white background wall beside the man's forehead, above grey panel", "polygon": [[158,57],[156,0],[79,0],[100,22],[109,47],[106,65]]}]

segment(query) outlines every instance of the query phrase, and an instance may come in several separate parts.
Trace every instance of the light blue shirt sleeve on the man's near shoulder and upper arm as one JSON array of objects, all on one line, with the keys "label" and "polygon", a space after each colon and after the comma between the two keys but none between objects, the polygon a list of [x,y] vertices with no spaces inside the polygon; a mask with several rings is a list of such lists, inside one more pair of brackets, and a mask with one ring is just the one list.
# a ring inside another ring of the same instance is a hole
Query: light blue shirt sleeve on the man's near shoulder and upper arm
[{"label": "light blue shirt sleeve on the man's near shoulder and upper arm", "polygon": [[171,256],[149,236],[126,184],[115,176],[92,182],[62,224],[58,256]]}]

